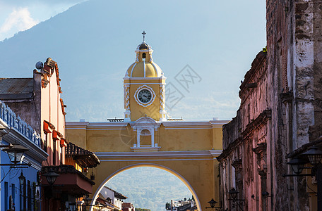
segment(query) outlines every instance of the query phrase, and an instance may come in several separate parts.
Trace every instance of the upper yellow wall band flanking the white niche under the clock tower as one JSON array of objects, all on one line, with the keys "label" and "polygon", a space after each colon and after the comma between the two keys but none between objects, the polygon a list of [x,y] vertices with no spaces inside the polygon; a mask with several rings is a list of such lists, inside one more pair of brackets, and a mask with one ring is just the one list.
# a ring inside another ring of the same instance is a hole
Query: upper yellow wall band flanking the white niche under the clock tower
[{"label": "upper yellow wall band flanking the white niche under the clock tower", "polygon": [[[225,121],[221,121],[220,124],[223,124],[222,122]],[[130,146],[137,142],[136,131],[133,131],[130,124],[122,122],[121,126],[115,128],[110,127],[110,124],[97,127],[93,123],[68,122],[67,139],[94,152],[130,152]],[[155,143],[161,146],[160,151],[221,150],[222,128],[211,127],[209,124],[200,128],[193,128],[192,125],[191,128],[181,126],[181,128],[167,129],[160,124],[155,131]]]}]

